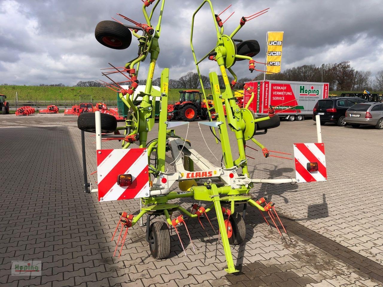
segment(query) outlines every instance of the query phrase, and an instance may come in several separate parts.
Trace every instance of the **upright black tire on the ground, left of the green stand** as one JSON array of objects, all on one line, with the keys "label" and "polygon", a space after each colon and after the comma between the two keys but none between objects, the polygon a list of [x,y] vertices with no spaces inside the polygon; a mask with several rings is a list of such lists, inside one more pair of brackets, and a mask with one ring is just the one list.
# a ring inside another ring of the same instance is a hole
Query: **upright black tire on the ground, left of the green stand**
[{"label": "upright black tire on the ground, left of the green stand", "polygon": [[150,225],[150,253],[155,259],[165,259],[170,254],[170,232],[167,223],[156,221]]}]

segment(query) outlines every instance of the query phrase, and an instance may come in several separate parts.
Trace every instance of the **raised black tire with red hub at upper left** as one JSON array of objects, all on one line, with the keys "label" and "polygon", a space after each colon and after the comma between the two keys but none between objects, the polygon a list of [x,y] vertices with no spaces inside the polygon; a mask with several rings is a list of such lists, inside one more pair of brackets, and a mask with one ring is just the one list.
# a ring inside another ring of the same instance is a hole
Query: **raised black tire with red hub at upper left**
[{"label": "raised black tire with red hub at upper left", "polygon": [[123,50],[130,46],[132,33],[123,24],[115,21],[101,21],[95,29],[95,37],[105,47]]}]

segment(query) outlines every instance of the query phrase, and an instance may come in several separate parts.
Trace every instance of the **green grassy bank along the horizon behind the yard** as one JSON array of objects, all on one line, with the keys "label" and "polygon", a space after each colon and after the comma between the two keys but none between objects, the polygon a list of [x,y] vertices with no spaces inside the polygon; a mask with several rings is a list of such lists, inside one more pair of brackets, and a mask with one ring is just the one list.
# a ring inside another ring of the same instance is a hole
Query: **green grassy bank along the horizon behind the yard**
[{"label": "green grassy bank along the horizon behind the yard", "polygon": [[[169,90],[169,101],[178,101],[181,89]],[[8,101],[15,101],[16,91],[19,101],[116,101],[117,95],[108,88],[95,87],[53,87],[53,86],[0,86],[0,94],[6,95]],[[355,91],[330,91],[329,94],[356,93]],[[381,92],[379,92],[381,94]]]}]

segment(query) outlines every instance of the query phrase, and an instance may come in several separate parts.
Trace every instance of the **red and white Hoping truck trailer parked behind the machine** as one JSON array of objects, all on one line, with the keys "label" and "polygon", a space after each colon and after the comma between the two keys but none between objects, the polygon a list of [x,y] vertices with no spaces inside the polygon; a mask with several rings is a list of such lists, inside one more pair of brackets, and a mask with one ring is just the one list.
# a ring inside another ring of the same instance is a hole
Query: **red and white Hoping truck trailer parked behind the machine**
[{"label": "red and white Hoping truck trailer parked behind the machine", "polygon": [[[267,115],[268,107],[275,107],[281,118],[288,121],[301,121],[304,116],[312,116],[313,108],[319,99],[329,97],[329,83],[257,81],[250,83],[254,88],[254,99],[249,109],[257,115]],[[244,91],[244,106],[250,94]]]}]

